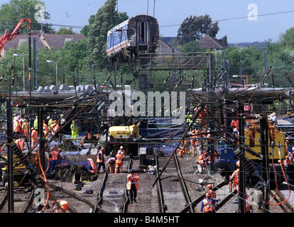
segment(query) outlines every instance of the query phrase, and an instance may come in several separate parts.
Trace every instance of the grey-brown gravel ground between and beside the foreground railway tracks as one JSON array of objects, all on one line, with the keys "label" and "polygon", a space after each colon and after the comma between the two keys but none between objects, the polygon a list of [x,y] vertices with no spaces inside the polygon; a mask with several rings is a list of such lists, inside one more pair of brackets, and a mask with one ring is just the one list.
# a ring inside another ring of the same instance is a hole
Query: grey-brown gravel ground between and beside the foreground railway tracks
[{"label": "grey-brown gravel ground between and beside the foreground railway tracks", "polygon": [[[160,163],[161,165],[164,165],[166,161],[168,160],[168,156],[164,157],[165,160],[162,160]],[[133,168],[136,170],[139,167],[139,160],[133,160]],[[209,167],[208,167],[209,168]],[[200,181],[203,183],[212,183],[213,186],[217,186],[221,182],[224,182],[224,177],[219,175],[218,172],[214,172],[212,175],[210,175],[208,172],[205,174],[196,174],[197,172],[197,165],[195,163],[195,159],[192,158],[192,155],[185,155],[184,157],[180,158],[180,169],[183,172],[183,177],[186,179],[185,183],[187,184],[187,188],[190,193],[191,201],[195,201],[199,196],[202,196],[206,192],[206,184],[199,184]],[[157,188],[156,186],[152,187],[152,184],[156,180],[156,175],[153,175],[152,173],[141,173],[138,174],[140,179],[138,182],[139,189],[138,189],[138,196],[137,196],[137,203],[129,204],[128,206],[128,212],[129,213],[158,213],[159,212],[159,205],[158,205],[158,194],[157,194]],[[175,168],[173,167],[167,167],[167,170],[165,172],[165,177],[168,175],[176,175]],[[116,175],[116,177],[126,177],[126,173],[120,173]],[[111,180],[113,185],[115,185],[115,181],[117,180],[116,177],[112,177]],[[65,187],[68,190],[72,190],[75,193],[79,194],[80,196],[83,196],[92,203],[97,202],[97,194],[99,192],[100,187],[102,186],[102,180],[104,178],[103,173],[99,173],[97,180],[93,182],[85,182],[84,186],[82,187],[81,191],[75,191],[75,184],[72,184],[71,182],[65,183],[65,182],[55,182],[57,184],[60,184],[60,187]],[[52,181],[52,180],[51,180]],[[165,180],[166,181],[166,180]],[[175,181],[175,178],[170,177],[168,180],[169,187],[180,187],[180,184]],[[291,196],[290,196],[290,203],[294,204],[294,187],[291,186]],[[94,191],[93,194],[85,194],[85,191],[87,189],[92,189]],[[285,195],[285,197],[288,197],[288,187],[286,184],[281,184],[280,186],[281,192]],[[224,196],[227,196],[229,194],[229,186],[226,185],[220,189],[217,190],[217,199],[224,199]],[[178,198],[177,194],[174,194],[175,199]],[[227,204],[224,204],[218,213],[235,213],[238,209],[238,204],[234,203],[234,200],[236,199],[236,196],[233,196],[232,199],[230,199]],[[200,203],[201,204],[201,203]],[[200,204],[198,204],[195,207],[195,212],[200,212]],[[183,207],[184,208],[184,207]],[[175,210],[169,210],[168,212],[178,212],[182,210],[182,207],[178,207]],[[258,206],[254,204],[254,213],[261,213],[262,211],[258,210]],[[272,213],[282,213],[283,211],[278,206],[270,206],[270,212]]]}]

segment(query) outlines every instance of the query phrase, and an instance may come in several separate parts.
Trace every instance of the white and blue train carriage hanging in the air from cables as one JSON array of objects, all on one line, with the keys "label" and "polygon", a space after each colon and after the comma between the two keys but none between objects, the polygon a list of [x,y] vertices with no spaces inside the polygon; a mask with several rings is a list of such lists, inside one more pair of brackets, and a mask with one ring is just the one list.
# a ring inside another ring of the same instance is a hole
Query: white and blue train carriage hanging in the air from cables
[{"label": "white and blue train carriage hanging in the air from cables", "polygon": [[107,33],[107,56],[114,61],[133,61],[138,53],[154,53],[158,41],[158,21],[137,15],[111,28]]}]

